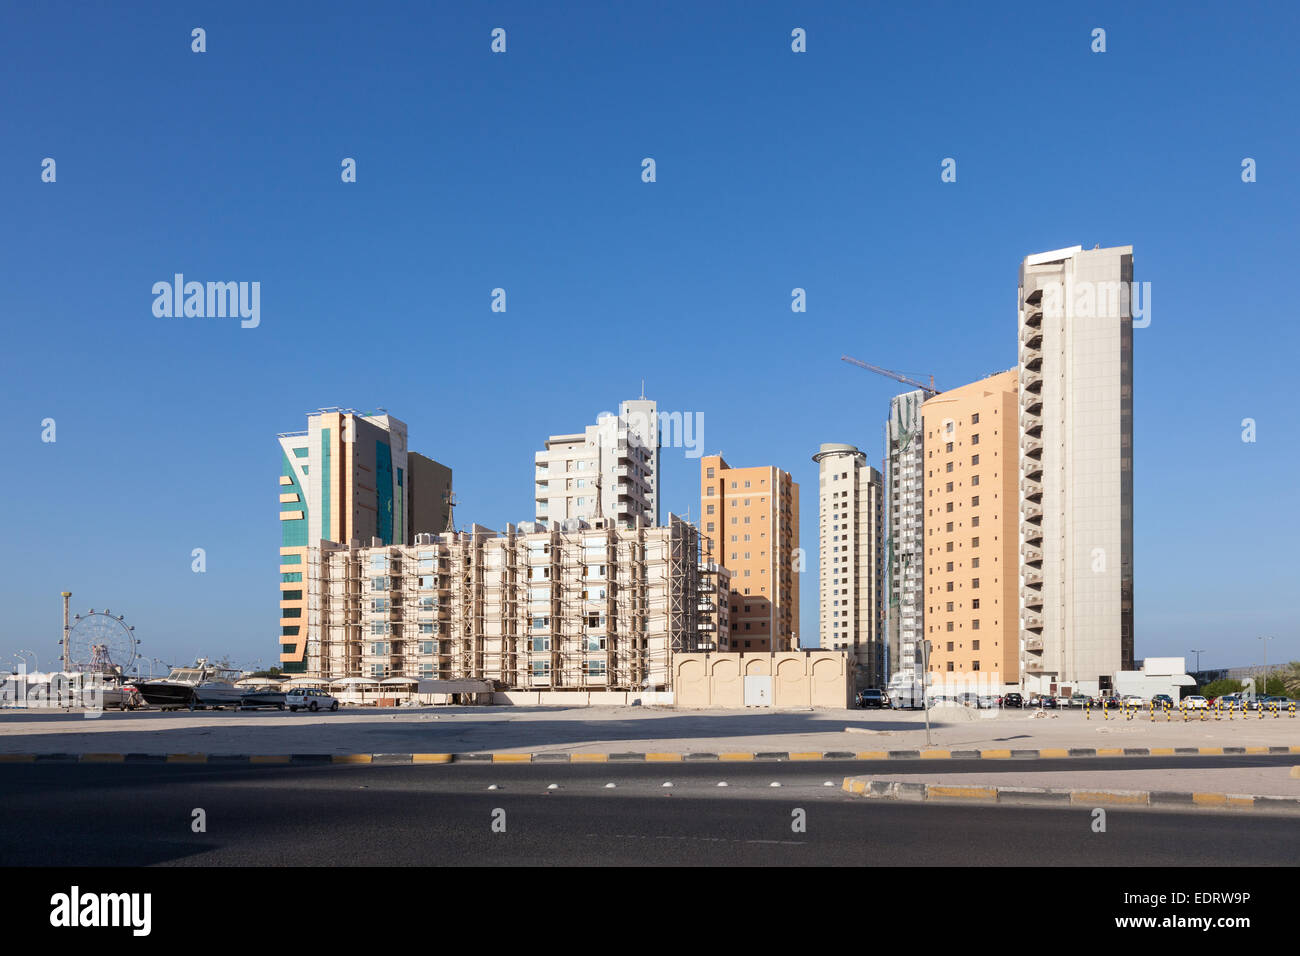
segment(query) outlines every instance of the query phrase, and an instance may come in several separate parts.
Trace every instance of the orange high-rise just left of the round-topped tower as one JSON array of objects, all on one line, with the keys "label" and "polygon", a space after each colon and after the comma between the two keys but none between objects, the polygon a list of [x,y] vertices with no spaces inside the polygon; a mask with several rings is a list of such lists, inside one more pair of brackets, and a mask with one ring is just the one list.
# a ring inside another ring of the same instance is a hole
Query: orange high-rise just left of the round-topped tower
[{"label": "orange high-rise just left of the round-topped tower", "polygon": [[707,553],[731,572],[729,635],[719,650],[798,649],[798,484],[780,468],[732,468],[705,455],[699,512]]}]

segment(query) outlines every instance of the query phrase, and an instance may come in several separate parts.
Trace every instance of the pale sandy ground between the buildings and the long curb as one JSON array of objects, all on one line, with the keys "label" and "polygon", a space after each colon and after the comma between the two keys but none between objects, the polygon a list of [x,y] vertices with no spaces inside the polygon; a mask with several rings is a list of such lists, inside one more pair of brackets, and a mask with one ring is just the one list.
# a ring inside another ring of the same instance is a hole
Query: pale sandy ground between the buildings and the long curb
[{"label": "pale sandy ground between the buildings and the long curb", "polygon": [[[1048,711],[1052,714],[1052,711]],[[1300,719],[1154,723],[1078,711],[676,710],[667,708],[429,708],[338,713],[0,711],[0,753],[910,753],[1002,757],[1254,752],[1296,747]],[[1235,748],[1225,750],[1223,748]],[[946,754],[944,754],[946,752]],[[1287,752],[1287,750],[1280,750]]]}]

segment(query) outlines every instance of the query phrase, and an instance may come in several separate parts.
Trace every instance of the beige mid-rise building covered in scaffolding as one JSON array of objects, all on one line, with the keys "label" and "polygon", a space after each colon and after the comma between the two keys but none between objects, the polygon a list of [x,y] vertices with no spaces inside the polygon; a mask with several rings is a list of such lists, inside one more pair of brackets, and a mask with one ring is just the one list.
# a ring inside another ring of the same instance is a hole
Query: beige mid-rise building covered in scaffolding
[{"label": "beige mid-rise building covered in scaffolding", "polygon": [[667,689],[673,656],[719,626],[701,604],[727,583],[701,567],[699,548],[676,515],[664,527],[571,519],[408,545],[321,541],[307,554],[307,674]]}]

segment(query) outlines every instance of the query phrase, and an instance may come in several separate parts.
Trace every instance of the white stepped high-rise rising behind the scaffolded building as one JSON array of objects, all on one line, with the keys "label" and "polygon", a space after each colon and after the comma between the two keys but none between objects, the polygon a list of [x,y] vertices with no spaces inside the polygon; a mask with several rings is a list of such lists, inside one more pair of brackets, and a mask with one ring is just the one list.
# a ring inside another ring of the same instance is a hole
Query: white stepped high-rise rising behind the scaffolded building
[{"label": "white stepped high-rise rising behind the scaffolded building", "polygon": [[659,523],[659,432],[655,403],[624,402],[572,434],[552,434],[533,457],[538,522],[604,519]]}]

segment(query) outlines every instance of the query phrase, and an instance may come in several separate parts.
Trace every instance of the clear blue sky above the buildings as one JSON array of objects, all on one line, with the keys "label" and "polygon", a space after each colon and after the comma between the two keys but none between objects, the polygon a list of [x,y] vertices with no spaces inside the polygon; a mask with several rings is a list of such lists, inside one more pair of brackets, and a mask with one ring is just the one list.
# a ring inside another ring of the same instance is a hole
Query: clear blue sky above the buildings
[{"label": "clear blue sky above the buildings", "polygon": [[[386,407],[455,468],[458,519],[500,527],[532,515],[541,441],[642,378],[708,453],[802,484],[811,641],[811,455],[879,466],[896,390],[840,355],[1010,368],[1019,260],[1075,243],[1131,243],[1152,284],[1138,656],[1300,658],[1300,8],[538,7],[4,7],[4,662],[53,659],[70,589],[148,656],[269,665],[277,432]],[[176,272],[260,281],[260,328],[156,319]],[[663,462],[666,510],[698,514],[698,463]]]}]

